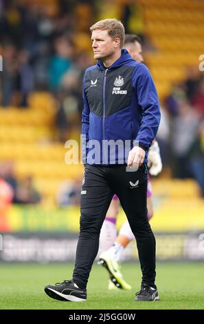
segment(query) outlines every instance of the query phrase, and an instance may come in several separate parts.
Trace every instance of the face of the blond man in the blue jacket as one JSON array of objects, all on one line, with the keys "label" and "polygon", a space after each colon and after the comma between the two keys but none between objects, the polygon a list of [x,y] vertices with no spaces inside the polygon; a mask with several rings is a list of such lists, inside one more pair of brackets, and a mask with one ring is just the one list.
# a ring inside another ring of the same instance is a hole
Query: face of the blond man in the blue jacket
[{"label": "face of the blond man in the blue jacket", "polygon": [[107,30],[93,30],[91,41],[94,59],[104,61],[107,57],[111,57],[118,48],[118,38],[112,39]]}]

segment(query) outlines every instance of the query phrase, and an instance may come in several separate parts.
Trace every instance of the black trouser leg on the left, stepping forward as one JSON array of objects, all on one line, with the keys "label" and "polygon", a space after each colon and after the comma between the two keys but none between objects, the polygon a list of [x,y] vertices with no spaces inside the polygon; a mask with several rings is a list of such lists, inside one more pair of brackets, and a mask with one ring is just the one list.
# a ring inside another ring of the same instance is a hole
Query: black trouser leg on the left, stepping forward
[{"label": "black trouser leg on the left, stepping forward", "polygon": [[106,168],[86,165],[81,194],[80,235],[76,250],[73,280],[86,287],[99,236],[113,192],[106,181]]}]

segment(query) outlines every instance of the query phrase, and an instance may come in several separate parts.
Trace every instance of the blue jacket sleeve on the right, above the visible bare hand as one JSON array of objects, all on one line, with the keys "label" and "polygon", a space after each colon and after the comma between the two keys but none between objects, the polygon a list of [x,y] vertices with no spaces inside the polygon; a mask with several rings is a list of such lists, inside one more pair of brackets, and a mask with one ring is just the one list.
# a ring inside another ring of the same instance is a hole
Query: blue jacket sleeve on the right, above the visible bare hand
[{"label": "blue jacket sleeve on the right, above the visible bare hand", "polygon": [[141,109],[141,125],[136,141],[141,148],[148,150],[157,134],[161,113],[159,98],[152,76],[144,64],[139,64],[133,73],[133,88],[135,88],[139,108]]}]

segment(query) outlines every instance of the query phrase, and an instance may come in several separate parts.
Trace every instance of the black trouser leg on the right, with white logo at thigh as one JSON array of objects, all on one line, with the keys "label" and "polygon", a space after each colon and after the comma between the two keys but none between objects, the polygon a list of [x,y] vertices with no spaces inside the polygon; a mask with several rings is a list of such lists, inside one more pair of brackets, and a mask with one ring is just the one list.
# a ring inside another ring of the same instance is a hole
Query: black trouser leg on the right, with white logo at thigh
[{"label": "black trouser leg on the right, with white logo at thigh", "polygon": [[120,203],[137,241],[142,283],[155,284],[155,236],[147,218],[146,165],[136,172],[126,172],[125,165],[110,167],[111,188]]}]

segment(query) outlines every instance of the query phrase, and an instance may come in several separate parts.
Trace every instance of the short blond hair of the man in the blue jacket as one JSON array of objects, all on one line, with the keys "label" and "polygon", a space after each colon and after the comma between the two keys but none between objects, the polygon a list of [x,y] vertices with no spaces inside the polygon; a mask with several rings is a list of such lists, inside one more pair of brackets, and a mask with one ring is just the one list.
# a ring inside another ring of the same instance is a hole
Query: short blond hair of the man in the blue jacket
[{"label": "short blond hair of the man in the blue jacket", "polygon": [[115,39],[116,37],[120,38],[120,48],[124,45],[124,38],[125,38],[125,30],[122,22],[117,19],[103,19],[98,21],[97,23],[94,23],[90,30],[93,32],[93,30],[100,29],[100,30],[107,30],[109,33],[109,36],[111,36],[112,39]]}]

